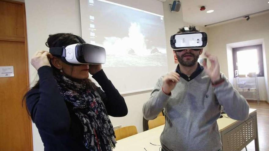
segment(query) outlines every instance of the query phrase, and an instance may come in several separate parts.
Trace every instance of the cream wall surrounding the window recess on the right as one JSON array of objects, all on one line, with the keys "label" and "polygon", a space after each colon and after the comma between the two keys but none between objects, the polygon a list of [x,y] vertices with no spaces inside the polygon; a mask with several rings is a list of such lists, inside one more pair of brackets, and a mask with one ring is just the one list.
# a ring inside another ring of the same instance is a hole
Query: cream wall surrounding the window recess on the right
[{"label": "cream wall surrounding the window recess on the right", "polygon": [[[216,55],[219,59],[220,70],[230,77],[228,70],[227,44],[249,41],[254,39],[263,39],[263,54],[264,54],[264,77],[265,89],[260,89],[260,93],[267,94],[268,99],[268,80],[269,76],[269,13],[252,16],[249,21],[238,20],[230,23],[225,23],[208,28],[208,51]],[[261,92],[263,91],[263,92]]]}]

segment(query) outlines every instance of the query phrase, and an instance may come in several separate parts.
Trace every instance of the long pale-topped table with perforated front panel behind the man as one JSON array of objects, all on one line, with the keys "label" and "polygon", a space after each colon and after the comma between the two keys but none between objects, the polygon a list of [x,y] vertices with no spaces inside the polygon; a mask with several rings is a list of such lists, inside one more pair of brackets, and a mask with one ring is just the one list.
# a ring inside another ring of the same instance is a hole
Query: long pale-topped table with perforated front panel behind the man
[{"label": "long pale-topped table with perforated front panel behind the man", "polygon": [[[227,114],[223,115],[228,117]],[[259,151],[256,109],[249,109],[249,118],[245,121],[226,117],[217,120],[223,151],[241,151],[252,140],[255,140],[255,151]],[[118,140],[113,151],[158,151],[160,146],[155,145],[160,145],[160,134],[163,129],[164,125],[161,125]]]}]

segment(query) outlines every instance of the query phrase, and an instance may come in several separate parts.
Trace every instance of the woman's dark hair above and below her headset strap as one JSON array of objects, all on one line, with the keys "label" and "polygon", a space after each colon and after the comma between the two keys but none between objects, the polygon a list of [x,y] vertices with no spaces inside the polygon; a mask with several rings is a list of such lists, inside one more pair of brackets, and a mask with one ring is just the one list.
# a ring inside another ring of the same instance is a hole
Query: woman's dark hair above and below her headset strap
[{"label": "woman's dark hair above and below her headset strap", "polygon": [[[62,46],[66,47],[68,45],[77,44],[77,43],[85,43],[85,41],[81,37],[76,36],[74,34],[58,33],[58,34],[49,35],[49,38],[47,39],[47,42],[46,42],[46,46],[49,48],[62,47]],[[54,67],[51,62],[50,62],[50,66],[52,67],[53,75],[60,73],[60,70]],[[72,80],[71,77],[70,79]],[[87,87],[93,88],[95,90],[97,89],[97,86],[90,79],[85,79],[85,82],[86,82]],[[32,88],[30,88],[29,91],[31,91],[31,89],[38,89],[38,88],[39,88],[39,80],[36,82],[36,84]],[[26,104],[27,93],[23,96],[22,105],[24,103]]]}]

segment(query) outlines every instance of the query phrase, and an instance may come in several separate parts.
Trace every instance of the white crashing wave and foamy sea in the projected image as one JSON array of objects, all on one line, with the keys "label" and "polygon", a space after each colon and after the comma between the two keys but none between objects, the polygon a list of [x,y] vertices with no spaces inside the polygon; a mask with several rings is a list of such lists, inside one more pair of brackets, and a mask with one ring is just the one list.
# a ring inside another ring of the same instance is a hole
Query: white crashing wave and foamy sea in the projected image
[{"label": "white crashing wave and foamy sea in the projected image", "polygon": [[127,37],[105,37],[102,44],[107,57],[104,67],[167,66],[166,49],[148,48],[148,42],[139,23],[130,24]]}]

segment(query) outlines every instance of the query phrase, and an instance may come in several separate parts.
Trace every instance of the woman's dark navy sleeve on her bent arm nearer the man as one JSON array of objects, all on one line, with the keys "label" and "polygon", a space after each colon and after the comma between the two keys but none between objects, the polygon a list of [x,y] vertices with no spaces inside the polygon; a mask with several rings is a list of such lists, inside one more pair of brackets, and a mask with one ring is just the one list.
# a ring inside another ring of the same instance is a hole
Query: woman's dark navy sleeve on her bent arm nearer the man
[{"label": "woman's dark navy sleeve on her bent arm nearer the man", "polygon": [[92,77],[104,90],[102,91],[101,88],[98,88],[98,91],[101,94],[101,98],[105,104],[107,113],[113,117],[123,117],[127,115],[128,109],[124,98],[120,95],[112,82],[106,77],[105,72],[100,70]]}]

